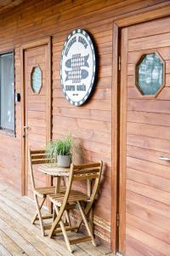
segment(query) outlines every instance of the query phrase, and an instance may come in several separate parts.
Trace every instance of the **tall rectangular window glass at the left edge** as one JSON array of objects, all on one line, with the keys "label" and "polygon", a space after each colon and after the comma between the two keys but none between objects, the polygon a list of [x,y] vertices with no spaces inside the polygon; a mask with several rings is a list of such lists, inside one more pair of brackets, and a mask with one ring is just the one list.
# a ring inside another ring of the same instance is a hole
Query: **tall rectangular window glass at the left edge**
[{"label": "tall rectangular window glass at the left edge", "polygon": [[0,55],[0,126],[14,131],[14,54]]}]

